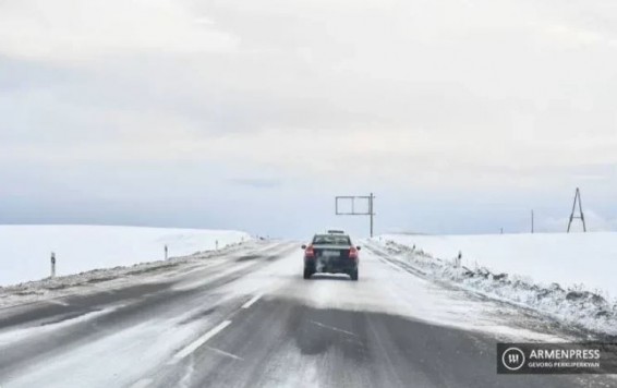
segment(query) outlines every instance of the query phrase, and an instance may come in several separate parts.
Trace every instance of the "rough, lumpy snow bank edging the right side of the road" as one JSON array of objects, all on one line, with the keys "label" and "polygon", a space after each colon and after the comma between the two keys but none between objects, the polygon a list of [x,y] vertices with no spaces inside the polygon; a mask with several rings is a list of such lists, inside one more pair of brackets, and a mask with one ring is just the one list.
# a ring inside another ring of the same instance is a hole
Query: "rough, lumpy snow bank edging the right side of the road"
[{"label": "rough, lumpy snow bank edging the right side of the road", "polygon": [[447,281],[500,301],[530,307],[567,325],[595,334],[617,336],[617,300],[584,290],[562,289],[558,283],[544,287],[513,274],[493,274],[485,267],[460,266],[456,259],[443,259],[391,240],[372,241],[403,267],[433,280]]}]

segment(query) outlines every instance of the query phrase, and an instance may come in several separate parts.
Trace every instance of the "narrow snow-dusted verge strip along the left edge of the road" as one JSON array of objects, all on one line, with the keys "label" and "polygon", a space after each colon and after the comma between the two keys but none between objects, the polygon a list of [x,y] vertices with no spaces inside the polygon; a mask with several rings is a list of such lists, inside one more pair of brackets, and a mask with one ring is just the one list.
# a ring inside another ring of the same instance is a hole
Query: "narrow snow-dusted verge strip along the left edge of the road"
[{"label": "narrow snow-dusted verge strip along the left edge of the road", "polygon": [[[204,259],[222,258],[229,254],[258,246],[259,242],[250,240],[229,244],[218,251],[196,252],[189,256],[171,257],[167,260],[147,262],[113,268],[99,268],[74,275],[0,287],[0,307],[65,296],[73,294],[76,287],[95,287],[96,284],[105,282],[107,287],[112,288],[121,286],[122,282],[126,282],[129,279],[129,281],[134,281],[135,277],[152,274],[157,270],[172,269],[181,265],[198,264],[199,266],[209,266],[218,262],[204,262]],[[82,290],[83,289],[80,289],[80,292],[82,292]]]}]

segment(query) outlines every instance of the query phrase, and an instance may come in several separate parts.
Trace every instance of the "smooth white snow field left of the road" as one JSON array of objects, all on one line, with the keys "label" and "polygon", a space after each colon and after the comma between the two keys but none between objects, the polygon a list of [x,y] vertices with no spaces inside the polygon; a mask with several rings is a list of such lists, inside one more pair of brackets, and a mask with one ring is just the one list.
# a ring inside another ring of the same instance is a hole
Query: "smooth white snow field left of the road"
[{"label": "smooth white snow field left of the road", "polygon": [[164,229],[106,226],[0,226],[0,286],[46,278],[50,255],[56,275],[129,266],[250,240],[231,230]]}]

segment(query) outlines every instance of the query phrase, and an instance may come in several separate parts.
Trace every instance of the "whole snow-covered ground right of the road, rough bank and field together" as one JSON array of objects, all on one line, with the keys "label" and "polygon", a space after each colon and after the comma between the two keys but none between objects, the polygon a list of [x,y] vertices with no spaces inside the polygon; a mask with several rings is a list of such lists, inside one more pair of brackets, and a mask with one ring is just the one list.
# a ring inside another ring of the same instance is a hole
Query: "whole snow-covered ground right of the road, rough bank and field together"
[{"label": "whole snow-covered ground right of the road, rough bank and field together", "polygon": [[428,277],[617,335],[617,233],[388,234],[373,242]]}]

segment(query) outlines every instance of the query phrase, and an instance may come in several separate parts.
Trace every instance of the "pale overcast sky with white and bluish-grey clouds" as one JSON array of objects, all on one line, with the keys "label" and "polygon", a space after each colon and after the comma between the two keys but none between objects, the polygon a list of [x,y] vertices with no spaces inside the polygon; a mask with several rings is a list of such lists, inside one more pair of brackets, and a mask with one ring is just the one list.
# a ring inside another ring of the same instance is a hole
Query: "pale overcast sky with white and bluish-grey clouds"
[{"label": "pale overcast sky with white and bluish-grey clouds", "polygon": [[0,223],[617,229],[615,0],[0,0]]}]

